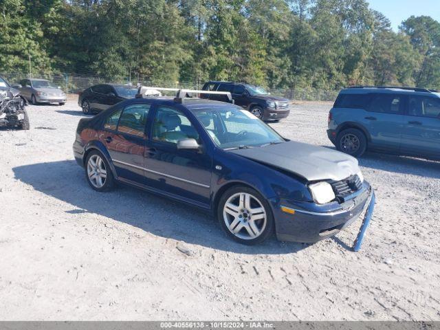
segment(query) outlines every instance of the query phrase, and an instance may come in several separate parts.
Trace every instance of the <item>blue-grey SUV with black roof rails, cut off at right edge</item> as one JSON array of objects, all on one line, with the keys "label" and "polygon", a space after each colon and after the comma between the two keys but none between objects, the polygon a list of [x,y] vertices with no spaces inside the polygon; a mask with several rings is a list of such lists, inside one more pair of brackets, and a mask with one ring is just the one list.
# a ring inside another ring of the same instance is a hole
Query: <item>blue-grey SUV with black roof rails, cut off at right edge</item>
[{"label": "blue-grey SUV with black roof rails, cut off at right edge", "polygon": [[440,93],[410,87],[350,87],[329,113],[327,135],[355,157],[379,151],[440,158]]}]

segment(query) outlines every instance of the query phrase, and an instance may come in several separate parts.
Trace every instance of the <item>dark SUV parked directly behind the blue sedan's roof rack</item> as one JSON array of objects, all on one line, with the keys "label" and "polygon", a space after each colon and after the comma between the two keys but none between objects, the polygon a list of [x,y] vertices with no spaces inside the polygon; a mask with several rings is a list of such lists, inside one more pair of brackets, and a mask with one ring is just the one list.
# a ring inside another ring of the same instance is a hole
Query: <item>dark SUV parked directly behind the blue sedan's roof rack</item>
[{"label": "dark SUV parked directly behind the blue sedan's roof rack", "polygon": [[[261,120],[280,120],[286,118],[289,113],[289,99],[270,95],[263,87],[228,83],[221,81],[209,81],[203,85],[204,91],[230,92],[236,105],[250,111]],[[201,94],[201,98],[223,101],[225,96],[215,94]]]}]

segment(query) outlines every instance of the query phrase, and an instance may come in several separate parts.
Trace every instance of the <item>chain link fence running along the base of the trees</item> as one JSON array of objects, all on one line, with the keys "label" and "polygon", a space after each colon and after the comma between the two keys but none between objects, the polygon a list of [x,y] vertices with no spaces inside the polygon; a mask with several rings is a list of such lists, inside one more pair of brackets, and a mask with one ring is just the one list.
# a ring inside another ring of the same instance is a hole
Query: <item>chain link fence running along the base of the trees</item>
[{"label": "chain link fence running along the base of the trees", "polygon": [[[66,93],[75,94],[84,89],[98,84],[104,83],[118,83],[118,84],[132,84],[137,85],[140,83],[146,86],[155,87],[169,87],[169,88],[188,88],[188,89],[201,89],[203,83],[195,82],[191,80],[171,82],[171,81],[152,81],[142,78],[136,78],[135,80],[130,78],[104,78],[100,76],[82,75],[74,73],[47,73],[47,72],[33,72],[30,75],[27,72],[6,72],[2,73],[2,76],[7,79],[11,84],[20,83],[23,79],[43,78],[52,81],[52,83],[58,85]],[[314,89],[305,87],[284,88],[284,89],[268,89],[274,96],[283,96],[290,100],[309,100],[309,101],[331,101],[336,100],[339,89]]]}]

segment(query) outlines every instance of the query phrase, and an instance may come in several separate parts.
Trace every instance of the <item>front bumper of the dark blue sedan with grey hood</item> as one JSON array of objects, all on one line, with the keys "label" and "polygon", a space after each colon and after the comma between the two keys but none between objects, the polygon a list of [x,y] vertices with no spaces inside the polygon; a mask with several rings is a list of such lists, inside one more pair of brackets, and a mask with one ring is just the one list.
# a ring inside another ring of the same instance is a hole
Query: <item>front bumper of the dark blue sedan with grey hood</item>
[{"label": "front bumper of the dark blue sedan with grey hood", "polygon": [[[320,212],[313,208],[307,210],[302,206],[286,205],[285,201],[272,200],[276,236],[280,241],[301,243],[315,243],[328,239],[358,220],[360,215],[369,208],[371,202],[374,202],[373,195],[373,188],[364,182],[364,188],[360,192],[353,194],[346,202],[338,204],[338,208],[327,210],[327,212]],[[281,205],[292,208],[295,213],[282,212]]]}]

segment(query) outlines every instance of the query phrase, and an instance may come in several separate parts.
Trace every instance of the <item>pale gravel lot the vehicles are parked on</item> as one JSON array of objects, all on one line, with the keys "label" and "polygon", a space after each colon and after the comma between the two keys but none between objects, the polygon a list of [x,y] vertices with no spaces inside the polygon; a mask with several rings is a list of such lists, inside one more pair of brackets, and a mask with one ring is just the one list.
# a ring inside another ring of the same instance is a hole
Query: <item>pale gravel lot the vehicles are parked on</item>
[{"label": "pale gravel lot the vehicles are parked on", "polygon": [[[330,107],[298,103],[272,126],[331,147]],[[359,253],[360,221],[314,245],[246,247],[180,203],[91,190],[73,98],[28,112],[30,131],[0,131],[1,320],[440,320],[439,162],[360,159],[377,205]]]}]

